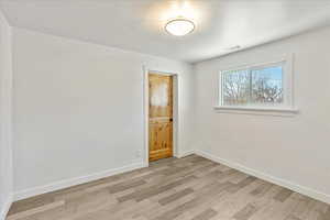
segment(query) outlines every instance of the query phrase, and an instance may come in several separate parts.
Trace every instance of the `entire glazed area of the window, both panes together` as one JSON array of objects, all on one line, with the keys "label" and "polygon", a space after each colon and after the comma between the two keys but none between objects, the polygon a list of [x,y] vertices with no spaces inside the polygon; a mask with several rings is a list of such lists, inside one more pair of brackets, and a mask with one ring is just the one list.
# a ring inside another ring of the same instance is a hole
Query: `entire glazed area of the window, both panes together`
[{"label": "entire glazed area of the window, both panes together", "polygon": [[276,106],[284,102],[283,64],[222,72],[223,106]]}]

